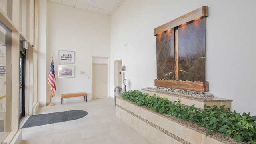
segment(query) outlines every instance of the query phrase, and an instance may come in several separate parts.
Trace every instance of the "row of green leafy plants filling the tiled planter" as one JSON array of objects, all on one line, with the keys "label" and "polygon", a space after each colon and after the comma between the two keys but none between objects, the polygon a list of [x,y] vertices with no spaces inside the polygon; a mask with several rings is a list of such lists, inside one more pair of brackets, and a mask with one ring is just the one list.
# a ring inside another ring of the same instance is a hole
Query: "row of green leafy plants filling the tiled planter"
[{"label": "row of green leafy plants filling the tiled planter", "polygon": [[198,110],[194,105],[190,107],[182,106],[180,100],[170,102],[168,98],[156,97],[156,94],[149,96],[147,93],[142,94],[141,91],[131,90],[123,92],[122,97],[133,101],[138,106],[146,106],[152,108],[160,114],[165,113],[166,116],[176,116],[182,120],[190,120],[198,123],[200,126],[208,128],[206,136],[210,132],[220,132],[230,136],[236,142],[243,141],[249,144],[256,144],[256,116],[237,113],[224,110],[224,106],[204,105],[204,110]]}]

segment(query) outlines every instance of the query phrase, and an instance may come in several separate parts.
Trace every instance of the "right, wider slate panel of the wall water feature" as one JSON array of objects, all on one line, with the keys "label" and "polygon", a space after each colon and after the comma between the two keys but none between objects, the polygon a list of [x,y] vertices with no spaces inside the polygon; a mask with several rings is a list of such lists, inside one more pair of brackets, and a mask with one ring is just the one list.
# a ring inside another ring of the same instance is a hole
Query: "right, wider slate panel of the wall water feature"
[{"label": "right, wider slate panel of the wall water feature", "polygon": [[178,27],[179,80],[206,81],[205,18]]}]

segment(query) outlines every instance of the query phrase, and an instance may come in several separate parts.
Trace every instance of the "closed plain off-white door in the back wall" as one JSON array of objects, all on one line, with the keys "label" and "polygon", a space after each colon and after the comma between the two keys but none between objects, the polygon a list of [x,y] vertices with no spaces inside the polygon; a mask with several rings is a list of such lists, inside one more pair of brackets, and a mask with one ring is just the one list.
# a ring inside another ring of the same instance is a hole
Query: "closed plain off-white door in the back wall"
[{"label": "closed plain off-white door in the back wall", "polygon": [[92,99],[106,98],[107,64],[92,64]]}]

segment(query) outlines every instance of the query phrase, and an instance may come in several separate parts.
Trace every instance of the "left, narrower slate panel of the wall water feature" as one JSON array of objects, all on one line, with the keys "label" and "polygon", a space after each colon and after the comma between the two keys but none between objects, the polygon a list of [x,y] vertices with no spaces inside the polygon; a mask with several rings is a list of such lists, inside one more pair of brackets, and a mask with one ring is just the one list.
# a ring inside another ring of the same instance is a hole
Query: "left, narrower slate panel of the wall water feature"
[{"label": "left, narrower slate panel of the wall water feature", "polygon": [[156,36],[157,79],[174,80],[174,30]]}]

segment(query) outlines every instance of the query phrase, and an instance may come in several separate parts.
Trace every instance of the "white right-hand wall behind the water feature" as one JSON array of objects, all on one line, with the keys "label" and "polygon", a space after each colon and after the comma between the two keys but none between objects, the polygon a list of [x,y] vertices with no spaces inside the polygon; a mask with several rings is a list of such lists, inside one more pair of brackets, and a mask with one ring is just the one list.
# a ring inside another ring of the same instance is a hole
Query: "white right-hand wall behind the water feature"
[{"label": "white right-hand wall behind the water feature", "polygon": [[[126,0],[111,16],[110,70],[115,60],[122,59],[127,90],[154,87],[154,28],[208,6],[206,80],[210,93],[232,99],[232,110],[256,115],[255,5],[255,0]],[[110,92],[114,91],[112,75]]]}]

